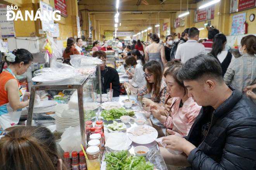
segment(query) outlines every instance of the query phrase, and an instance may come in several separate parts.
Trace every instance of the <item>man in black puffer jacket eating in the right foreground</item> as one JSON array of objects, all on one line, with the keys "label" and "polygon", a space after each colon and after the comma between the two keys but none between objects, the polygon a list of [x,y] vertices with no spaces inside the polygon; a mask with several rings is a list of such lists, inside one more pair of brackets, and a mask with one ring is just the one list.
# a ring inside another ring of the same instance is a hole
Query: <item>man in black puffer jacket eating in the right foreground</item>
[{"label": "man in black puffer jacket eating in the right foreground", "polygon": [[167,148],[183,151],[186,170],[255,170],[256,105],[222,78],[217,59],[201,54],[189,59],[178,78],[202,109],[188,136],[167,136]]}]

